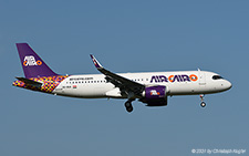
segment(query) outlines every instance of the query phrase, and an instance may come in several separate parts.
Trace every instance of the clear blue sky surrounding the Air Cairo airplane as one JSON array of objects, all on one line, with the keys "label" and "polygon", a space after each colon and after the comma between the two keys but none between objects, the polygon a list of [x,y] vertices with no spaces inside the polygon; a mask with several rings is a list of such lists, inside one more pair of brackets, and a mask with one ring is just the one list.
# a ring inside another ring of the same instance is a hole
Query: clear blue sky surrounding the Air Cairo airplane
[{"label": "clear blue sky surrounding the Air Cairo airplane", "polygon": [[[248,1],[1,1],[0,155],[191,155],[249,150]],[[201,70],[228,92],[168,98],[166,107],[79,100],[12,86],[23,76],[14,43],[28,42],[58,73]],[[247,152],[248,153],[248,152]]]}]

